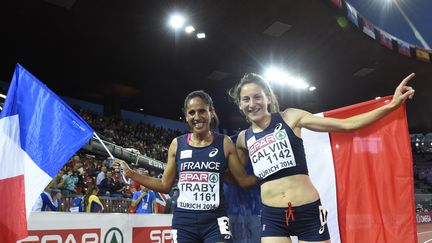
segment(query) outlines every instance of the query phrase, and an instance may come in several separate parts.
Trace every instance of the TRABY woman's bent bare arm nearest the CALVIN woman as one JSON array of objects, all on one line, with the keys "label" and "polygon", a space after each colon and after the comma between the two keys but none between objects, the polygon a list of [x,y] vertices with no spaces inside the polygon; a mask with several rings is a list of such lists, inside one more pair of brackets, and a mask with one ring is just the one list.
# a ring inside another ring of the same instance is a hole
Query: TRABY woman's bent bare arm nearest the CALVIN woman
[{"label": "TRABY woman's bent bare arm nearest the CALVIN woman", "polygon": [[230,173],[233,175],[238,184],[242,188],[251,188],[255,186],[257,183],[257,178],[246,173],[244,166],[239,161],[234,143],[228,136],[225,136],[224,138],[224,151],[228,160]]}]

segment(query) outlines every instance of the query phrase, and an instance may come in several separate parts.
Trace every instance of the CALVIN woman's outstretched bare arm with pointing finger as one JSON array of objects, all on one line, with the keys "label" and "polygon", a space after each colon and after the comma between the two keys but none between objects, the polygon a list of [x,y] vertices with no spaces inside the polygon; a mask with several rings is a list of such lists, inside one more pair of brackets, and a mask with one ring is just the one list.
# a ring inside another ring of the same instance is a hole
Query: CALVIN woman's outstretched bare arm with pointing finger
[{"label": "CALVIN woman's outstretched bare arm with pointing finger", "polygon": [[[320,132],[330,132],[330,131],[353,131],[381,119],[401,104],[403,104],[406,99],[412,99],[414,96],[414,89],[407,86],[409,80],[414,77],[414,73],[408,75],[402,82],[397,86],[393,99],[388,104],[381,106],[375,110],[352,116],[346,119],[335,119],[335,118],[323,118],[312,115],[309,112],[297,110],[297,109],[287,109],[284,111],[284,118],[290,116],[298,118],[296,127],[307,128],[313,131]],[[287,118],[288,119],[288,118]]]}]

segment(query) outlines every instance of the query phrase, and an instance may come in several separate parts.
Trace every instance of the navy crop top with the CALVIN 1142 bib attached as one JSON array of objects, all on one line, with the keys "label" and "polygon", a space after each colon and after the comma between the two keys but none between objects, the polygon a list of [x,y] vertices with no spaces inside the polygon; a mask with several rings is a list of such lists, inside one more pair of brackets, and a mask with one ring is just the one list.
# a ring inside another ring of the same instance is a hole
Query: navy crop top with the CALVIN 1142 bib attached
[{"label": "navy crop top with the CALVIN 1142 bib attached", "polygon": [[261,183],[297,174],[308,174],[303,140],[285,123],[280,113],[272,113],[269,126],[245,133],[254,174]]}]

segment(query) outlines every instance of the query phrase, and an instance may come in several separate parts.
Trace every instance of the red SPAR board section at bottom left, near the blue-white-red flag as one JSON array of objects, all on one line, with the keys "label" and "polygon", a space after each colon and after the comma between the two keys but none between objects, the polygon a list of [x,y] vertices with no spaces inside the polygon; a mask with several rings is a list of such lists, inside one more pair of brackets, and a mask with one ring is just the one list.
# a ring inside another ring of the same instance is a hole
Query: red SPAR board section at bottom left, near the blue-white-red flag
[{"label": "red SPAR board section at bottom left, near the blue-white-red flag", "polygon": [[30,230],[29,236],[17,243],[99,243],[100,229]]}]

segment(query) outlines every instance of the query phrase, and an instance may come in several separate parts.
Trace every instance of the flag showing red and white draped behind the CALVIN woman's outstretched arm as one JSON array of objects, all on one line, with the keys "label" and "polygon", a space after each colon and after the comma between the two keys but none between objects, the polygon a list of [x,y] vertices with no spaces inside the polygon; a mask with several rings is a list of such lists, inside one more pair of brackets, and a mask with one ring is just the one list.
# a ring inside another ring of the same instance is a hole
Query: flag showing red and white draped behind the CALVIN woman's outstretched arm
[{"label": "flag showing red and white draped behind the CALVIN woman's outstretched arm", "polygon": [[[391,96],[324,112],[346,118]],[[309,175],[328,210],[332,242],[417,242],[414,179],[405,105],[349,133],[302,131]]]}]

